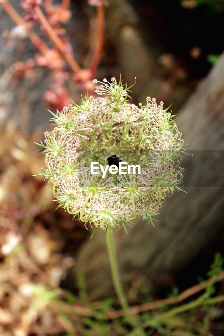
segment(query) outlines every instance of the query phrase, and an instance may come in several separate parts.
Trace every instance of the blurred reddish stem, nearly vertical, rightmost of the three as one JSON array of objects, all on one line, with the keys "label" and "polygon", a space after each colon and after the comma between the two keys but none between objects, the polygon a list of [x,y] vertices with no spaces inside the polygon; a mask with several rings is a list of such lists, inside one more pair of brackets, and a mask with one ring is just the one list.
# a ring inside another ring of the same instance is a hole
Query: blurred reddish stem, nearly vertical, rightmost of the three
[{"label": "blurred reddish stem, nearly vertical, rightmost of the three", "polygon": [[104,6],[97,7],[97,43],[90,70],[94,76],[100,63],[104,40]]}]

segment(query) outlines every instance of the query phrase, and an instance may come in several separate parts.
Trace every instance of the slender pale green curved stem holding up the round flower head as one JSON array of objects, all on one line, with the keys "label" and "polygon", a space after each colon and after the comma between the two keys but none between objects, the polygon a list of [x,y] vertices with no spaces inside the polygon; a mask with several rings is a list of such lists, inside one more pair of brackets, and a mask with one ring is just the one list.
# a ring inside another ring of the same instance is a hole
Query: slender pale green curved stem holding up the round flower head
[{"label": "slender pale green curved stem holding up the round flower head", "polygon": [[108,253],[109,253],[110,267],[111,267],[114,289],[117,294],[121,307],[125,311],[126,315],[129,315],[129,307],[128,307],[127,299],[124,294],[123,286],[120,280],[120,272],[119,272],[119,268],[117,264],[117,258],[115,255],[113,231],[110,227],[108,227],[107,229],[106,236],[107,236],[107,248],[108,248]]}]

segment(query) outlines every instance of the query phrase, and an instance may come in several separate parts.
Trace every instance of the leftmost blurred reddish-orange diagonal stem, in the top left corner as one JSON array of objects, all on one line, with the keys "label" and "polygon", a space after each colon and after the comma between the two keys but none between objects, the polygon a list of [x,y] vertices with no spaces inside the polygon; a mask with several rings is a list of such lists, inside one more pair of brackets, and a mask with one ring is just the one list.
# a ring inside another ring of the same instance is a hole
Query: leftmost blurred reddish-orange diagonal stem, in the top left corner
[{"label": "leftmost blurred reddish-orange diagonal stem, in the top left corner", "polygon": [[[23,18],[16,12],[16,10],[10,5],[10,3],[5,1],[0,1],[0,4],[6,11],[6,13],[11,17],[11,19],[16,23],[16,25],[25,26],[26,28],[26,22],[23,20]],[[32,31],[27,32],[31,42],[35,45],[35,47],[43,54],[45,55],[47,51],[49,51],[47,45],[39,38],[38,35],[36,35]]]}]

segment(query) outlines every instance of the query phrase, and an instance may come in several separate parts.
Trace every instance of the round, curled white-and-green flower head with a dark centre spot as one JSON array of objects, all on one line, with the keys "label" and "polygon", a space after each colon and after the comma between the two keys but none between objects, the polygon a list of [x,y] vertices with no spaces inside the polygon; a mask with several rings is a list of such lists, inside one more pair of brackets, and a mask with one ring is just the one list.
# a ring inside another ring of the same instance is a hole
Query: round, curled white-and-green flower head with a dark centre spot
[{"label": "round, curled white-and-green flower head with a dark centre spot", "polygon": [[[137,215],[153,223],[165,196],[181,190],[184,152],[181,133],[163,102],[146,98],[130,103],[130,87],[115,78],[94,80],[98,97],[86,96],[53,115],[55,127],[41,144],[46,155],[43,174],[53,183],[59,206],[83,221],[107,230],[126,227]],[[141,174],[90,174],[90,163],[107,164],[117,155],[140,165]]]}]

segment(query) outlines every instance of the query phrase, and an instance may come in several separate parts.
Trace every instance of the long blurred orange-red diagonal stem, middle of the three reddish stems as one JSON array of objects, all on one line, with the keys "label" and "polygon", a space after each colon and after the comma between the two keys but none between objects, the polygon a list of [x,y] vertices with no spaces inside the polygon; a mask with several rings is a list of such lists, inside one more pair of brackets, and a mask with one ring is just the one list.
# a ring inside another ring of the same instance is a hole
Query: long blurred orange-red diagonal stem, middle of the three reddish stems
[{"label": "long blurred orange-red diagonal stem, middle of the three reddish stems", "polygon": [[[40,9],[40,7],[39,6],[35,6],[34,7],[34,11],[35,11],[35,13],[36,13],[36,15],[37,15],[37,17],[38,17],[41,25],[45,29],[45,31],[48,34],[49,38],[51,39],[51,41],[61,51],[61,53],[63,54],[63,56],[67,60],[70,68],[74,71],[74,73],[76,73],[77,76],[80,77],[79,76],[79,73],[81,72],[80,66],[78,65],[78,63],[76,62],[76,60],[73,58],[72,54],[66,50],[66,47],[65,47],[64,43],[61,41],[61,39],[55,33],[54,29],[49,24],[48,20],[44,16],[44,14],[43,14],[42,10]],[[82,80],[82,78],[80,78],[80,79]]]}]

